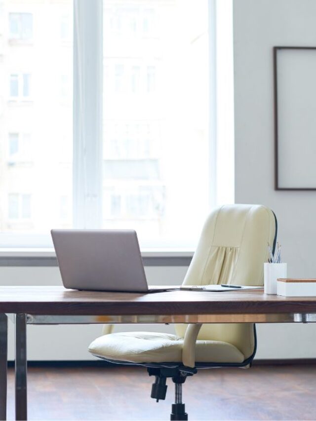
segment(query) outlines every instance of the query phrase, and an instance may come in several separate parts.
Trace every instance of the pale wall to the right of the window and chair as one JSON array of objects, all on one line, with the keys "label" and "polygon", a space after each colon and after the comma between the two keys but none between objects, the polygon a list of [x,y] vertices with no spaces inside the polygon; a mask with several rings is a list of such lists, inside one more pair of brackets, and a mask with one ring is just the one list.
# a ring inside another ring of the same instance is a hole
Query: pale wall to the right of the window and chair
[{"label": "pale wall to the right of the window and chair", "polygon": [[[316,46],[315,22],[315,0],[234,0],[236,203],[275,211],[291,277],[316,277],[316,192],[274,190],[272,47]],[[258,334],[259,358],[316,357],[316,325]]]}]

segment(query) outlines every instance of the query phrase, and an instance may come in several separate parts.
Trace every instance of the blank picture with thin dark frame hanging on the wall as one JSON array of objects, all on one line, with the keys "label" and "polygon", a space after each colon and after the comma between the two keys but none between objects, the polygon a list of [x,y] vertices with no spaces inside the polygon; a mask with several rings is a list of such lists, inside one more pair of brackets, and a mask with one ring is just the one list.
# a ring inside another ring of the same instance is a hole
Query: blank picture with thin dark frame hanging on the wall
[{"label": "blank picture with thin dark frame hanging on the wall", "polygon": [[316,190],[316,47],[275,46],[275,190]]}]

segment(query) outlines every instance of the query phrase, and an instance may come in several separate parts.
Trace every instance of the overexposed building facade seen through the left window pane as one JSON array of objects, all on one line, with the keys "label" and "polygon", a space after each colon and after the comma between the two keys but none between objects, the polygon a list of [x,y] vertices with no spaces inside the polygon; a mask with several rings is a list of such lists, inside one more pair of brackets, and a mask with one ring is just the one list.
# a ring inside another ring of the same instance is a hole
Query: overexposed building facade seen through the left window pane
[{"label": "overexposed building facade seen through the left window pane", "polygon": [[49,246],[72,227],[73,1],[0,0],[0,23],[0,244]]}]

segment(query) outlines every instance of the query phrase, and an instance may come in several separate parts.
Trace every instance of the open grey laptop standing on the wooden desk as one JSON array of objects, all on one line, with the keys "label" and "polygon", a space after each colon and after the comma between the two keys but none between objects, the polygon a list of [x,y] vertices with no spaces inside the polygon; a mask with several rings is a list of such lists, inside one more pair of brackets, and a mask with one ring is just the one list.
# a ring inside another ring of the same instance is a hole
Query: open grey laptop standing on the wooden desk
[{"label": "open grey laptop standing on the wooden desk", "polygon": [[65,288],[143,293],[168,290],[148,288],[135,230],[51,230],[51,236]]}]

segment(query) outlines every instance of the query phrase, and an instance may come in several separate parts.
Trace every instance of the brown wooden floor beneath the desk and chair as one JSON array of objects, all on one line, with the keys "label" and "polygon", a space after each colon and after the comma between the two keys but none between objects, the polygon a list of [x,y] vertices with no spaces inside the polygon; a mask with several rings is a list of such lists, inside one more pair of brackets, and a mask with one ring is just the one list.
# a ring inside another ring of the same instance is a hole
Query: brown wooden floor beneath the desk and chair
[{"label": "brown wooden floor beneath the desk and chair", "polygon": [[[143,368],[30,367],[30,420],[168,420],[173,384],[165,401],[150,398]],[[8,419],[14,419],[9,369]],[[192,420],[316,420],[316,365],[200,370],[184,385]]]}]

